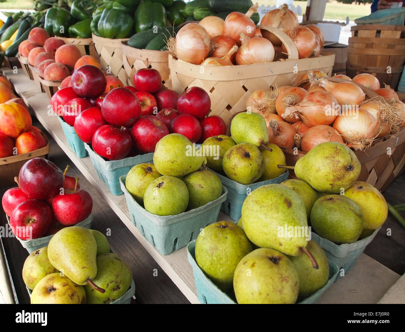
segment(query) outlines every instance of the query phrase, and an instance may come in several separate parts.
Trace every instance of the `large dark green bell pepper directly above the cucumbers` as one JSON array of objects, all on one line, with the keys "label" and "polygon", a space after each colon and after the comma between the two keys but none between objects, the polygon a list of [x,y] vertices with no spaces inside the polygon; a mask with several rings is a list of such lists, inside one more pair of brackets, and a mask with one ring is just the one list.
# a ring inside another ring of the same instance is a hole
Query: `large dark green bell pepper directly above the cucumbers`
[{"label": "large dark green bell pepper directly above the cucumbers", "polygon": [[166,9],[160,2],[142,2],[135,11],[135,31],[141,32],[153,26],[166,26],[166,20]]}]

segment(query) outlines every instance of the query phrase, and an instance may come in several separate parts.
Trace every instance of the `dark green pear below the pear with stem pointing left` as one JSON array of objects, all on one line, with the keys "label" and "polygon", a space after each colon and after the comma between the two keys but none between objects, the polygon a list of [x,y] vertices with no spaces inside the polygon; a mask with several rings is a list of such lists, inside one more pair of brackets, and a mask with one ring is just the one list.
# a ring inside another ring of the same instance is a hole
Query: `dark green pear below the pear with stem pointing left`
[{"label": "dark green pear below the pear with stem pointing left", "polygon": [[313,204],[311,226],[320,237],[336,244],[353,243],[363,231],[364,214],[348,197],[323,196]]}]

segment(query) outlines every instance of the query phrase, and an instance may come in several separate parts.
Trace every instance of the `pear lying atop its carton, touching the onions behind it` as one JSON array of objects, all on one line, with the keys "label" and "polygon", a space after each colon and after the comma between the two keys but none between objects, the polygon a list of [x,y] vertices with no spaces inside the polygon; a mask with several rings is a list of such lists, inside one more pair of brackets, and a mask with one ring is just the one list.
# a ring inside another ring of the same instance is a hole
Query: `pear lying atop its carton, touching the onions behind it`
[{"label": "pear lying atop its carton, touching the onions behind it", "polygon": [[269,143],[269,131],[263,116],[254,112],[237,114],[230,123],[230,133],[236,144],[262,146]]}]

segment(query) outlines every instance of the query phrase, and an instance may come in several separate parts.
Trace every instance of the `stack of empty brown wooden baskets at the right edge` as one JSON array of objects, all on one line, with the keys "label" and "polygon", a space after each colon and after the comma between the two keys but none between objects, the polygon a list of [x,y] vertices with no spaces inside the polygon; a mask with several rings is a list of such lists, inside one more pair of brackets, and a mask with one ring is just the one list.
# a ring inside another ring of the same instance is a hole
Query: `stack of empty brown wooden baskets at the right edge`
[{"label": "stack of empty brown wooden baskets at the right edge", "polygon": [[369,73],[396,90],[405,63],[405,26],[361,24],[351,31],[347,75]]}]

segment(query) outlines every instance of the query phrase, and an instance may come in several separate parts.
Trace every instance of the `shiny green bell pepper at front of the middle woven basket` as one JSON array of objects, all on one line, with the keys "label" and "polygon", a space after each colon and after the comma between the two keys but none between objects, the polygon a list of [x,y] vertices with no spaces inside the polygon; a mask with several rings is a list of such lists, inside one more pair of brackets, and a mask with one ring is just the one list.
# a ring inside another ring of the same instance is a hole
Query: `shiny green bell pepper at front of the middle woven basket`
[{"label": "shiny green bell pepper at front of the middle woven basket", "polygon": [[[94,18],[95,19],[95,18]],[[98,20],[97,30],[101,37],[121,39],[132,36],[134,19],[119,9],[104,9]]]}]

